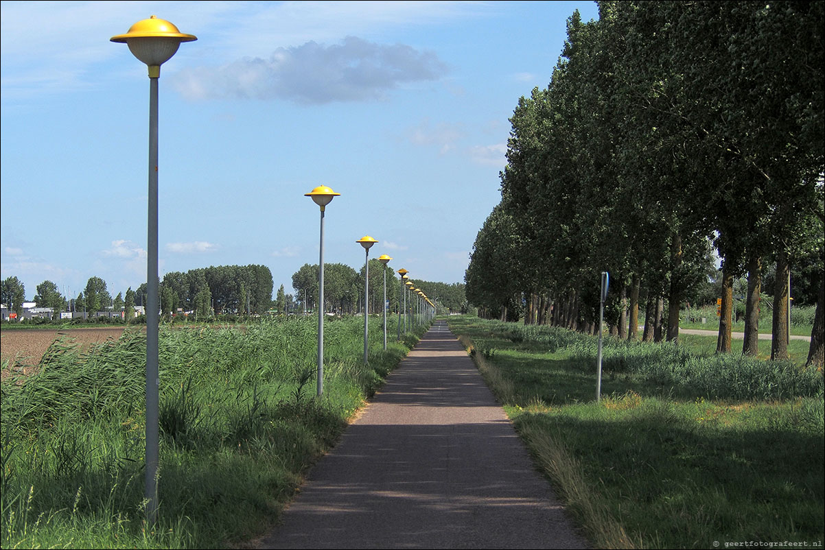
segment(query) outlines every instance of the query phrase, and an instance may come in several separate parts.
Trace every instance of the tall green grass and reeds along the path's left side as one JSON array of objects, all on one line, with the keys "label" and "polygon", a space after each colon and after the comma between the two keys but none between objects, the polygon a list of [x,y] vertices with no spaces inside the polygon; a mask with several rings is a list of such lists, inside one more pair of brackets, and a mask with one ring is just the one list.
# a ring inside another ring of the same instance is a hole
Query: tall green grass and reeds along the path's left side
[{"label": "tall green grass and reeds along the path's left side", "polygon": [[143,331],[83,354],[55,344],[39,374],[2,386],[2,548],[222,548],[260,534],[417,341],[384,352],[373,325],[366,366],[363,319],[328,322],[323,397],[312,319],[163,328],[152,527]]}]

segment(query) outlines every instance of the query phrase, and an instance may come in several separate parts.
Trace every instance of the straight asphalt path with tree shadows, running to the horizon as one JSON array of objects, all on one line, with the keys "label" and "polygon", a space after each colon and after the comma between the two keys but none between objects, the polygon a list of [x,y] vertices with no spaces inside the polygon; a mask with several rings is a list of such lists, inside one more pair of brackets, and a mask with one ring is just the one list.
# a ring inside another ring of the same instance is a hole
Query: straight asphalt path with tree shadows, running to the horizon
[{"label": "straight asphalt path with tree shadows, running to the horizon", "polygon": [[587,548],[444,322],[258,548]]}]

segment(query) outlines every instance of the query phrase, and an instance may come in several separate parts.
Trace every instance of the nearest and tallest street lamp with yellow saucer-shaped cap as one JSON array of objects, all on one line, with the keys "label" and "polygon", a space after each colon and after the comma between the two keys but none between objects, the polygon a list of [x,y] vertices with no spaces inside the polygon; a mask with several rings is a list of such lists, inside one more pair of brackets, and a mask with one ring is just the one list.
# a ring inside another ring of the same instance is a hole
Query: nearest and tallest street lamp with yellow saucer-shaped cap
[{"label": "nearest and tallest street lamp with yellow saucer-shaped cap", "polygon": [[149,159],[148,231],[146,258],[146,519],[154,524],[158,513],[158,78],[160,66],[172,58],[181,42],[197,40],[165,19],[151,16],[138,21],[125,35],[112,36],[124,43],[148,66]]}]

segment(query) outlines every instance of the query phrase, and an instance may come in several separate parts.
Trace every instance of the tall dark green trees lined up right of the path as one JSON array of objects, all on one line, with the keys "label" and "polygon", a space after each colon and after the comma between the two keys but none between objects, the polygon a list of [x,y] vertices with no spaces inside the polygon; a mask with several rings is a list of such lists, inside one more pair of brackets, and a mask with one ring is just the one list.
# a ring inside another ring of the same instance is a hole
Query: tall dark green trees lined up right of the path
[{"label": "tall dark green trees lined up right of the path", "polygon": [[718,350],[731,350],[733,280],[747,274],[743,352],[756,353],[771,264],[771,356],[785,358],[790,266],[813,264],[808,361],[822,364],[825,3],[599,8],[599,21],[573,14],[549,86],[518,101],[468,298],[506,317],[525,297],[527,322],[589,329],[608,271],[620,333],[636,337],[646,298],[646,329],[661,322],[675,340],[712,244],[723,270]]}]

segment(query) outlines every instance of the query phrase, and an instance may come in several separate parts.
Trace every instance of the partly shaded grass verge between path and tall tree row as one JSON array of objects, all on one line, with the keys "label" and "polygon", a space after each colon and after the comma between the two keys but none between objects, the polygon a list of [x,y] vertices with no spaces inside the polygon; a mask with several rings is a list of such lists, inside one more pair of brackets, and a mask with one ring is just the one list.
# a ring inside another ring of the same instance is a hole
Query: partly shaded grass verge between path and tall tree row
[{"label": "partly shaded grass verge between path and tall tree row", "polygon": [[596,548],[822,548],[822,372],[607,338],[596,402],[596,338],[449,322]]}]

